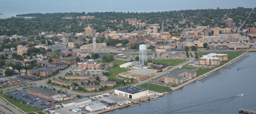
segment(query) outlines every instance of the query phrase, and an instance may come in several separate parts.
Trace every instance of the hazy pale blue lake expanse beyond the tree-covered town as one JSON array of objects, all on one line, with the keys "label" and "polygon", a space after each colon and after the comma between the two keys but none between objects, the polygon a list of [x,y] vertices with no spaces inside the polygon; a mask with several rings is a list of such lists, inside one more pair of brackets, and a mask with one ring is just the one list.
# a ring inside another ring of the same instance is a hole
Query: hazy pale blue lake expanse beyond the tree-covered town
[{"label": "hazy pale blue lake expanse beyond the tree-covered town", "polygon": [[0,18],[63,12],[157,12],[187,9],[254,8],[255,0],[0,0]]}]

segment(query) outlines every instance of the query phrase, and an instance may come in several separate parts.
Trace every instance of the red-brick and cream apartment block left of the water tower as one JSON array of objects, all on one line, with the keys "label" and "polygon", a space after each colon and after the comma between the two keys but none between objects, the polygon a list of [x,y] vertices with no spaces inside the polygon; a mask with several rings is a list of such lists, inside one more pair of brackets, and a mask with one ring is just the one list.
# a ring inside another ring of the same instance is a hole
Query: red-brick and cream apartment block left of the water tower
[{"label": "red-brick and cream apartment block left of the water tower", "polygon": [[102,68],[102,63],[97,63],[96,61],[94,62],[92,59],[80,61],[77,64],[78,64],[78,69],[82,69],[82,70],[85,70],[86,68],[87,69],[101,69]]}]

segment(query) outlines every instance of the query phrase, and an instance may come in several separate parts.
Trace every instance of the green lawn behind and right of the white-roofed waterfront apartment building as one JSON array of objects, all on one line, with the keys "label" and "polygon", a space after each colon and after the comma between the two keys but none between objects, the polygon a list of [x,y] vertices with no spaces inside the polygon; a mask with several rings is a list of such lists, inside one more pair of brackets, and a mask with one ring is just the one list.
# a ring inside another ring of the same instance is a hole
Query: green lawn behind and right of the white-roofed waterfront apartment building
[{"label": "green lawn behind and right of the white-roofed waterfront apartment building", "polygon": [[203,55],[207,55],[209,53],[216,53],[216,54],[228,54],[228,59],[232,60],[236,58],[237,56],[243,54],[244,52],[197,52],[199,57],[202,57]]}]

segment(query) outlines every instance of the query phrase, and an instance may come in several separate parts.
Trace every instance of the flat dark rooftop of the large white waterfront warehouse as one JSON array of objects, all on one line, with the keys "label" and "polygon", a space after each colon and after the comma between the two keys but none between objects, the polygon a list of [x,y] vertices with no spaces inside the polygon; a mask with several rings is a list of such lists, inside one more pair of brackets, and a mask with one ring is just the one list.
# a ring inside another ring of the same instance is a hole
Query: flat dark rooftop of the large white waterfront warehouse
[{"label": "flat dark rooftop of the large white waterfront warehouse", "polygon": [[133,86],[124,86],[124,87],[118,88],[116,90],[126,92],[126,93],[129,93],[129,94],[137,94],[139,92],[148,91],[148,90],[138,88],[138,87],[133,87]]}]

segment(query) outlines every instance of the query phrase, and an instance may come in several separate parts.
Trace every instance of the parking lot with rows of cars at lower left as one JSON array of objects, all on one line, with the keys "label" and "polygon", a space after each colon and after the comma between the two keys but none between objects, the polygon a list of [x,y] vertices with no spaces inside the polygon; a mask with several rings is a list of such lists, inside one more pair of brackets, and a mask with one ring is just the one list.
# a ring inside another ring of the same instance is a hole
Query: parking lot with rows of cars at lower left
[{"label": "parking lot with rows of cars at lower left", "polygon": [[[15,93],[17,93],[17,94],[15,95]],[[25,96],[28,95],[28,97],[27,98],[23,97],[23,94],[26,94]],[[34,103],[32,103],[31,105],[35,105],[36,108],[38,108],[38,107],[47,108],[47,106],[40,105],[41,103],[45,102],[46,99],[28,94],[28,93],[26,93],[26,89],[10,92],[8,95],[13,96],[13,98],[20,99],[21,101],[24,100],[25,102],[27,102],[27,101],[32,102],[33,101]],[[41,99],[41,101],[36,102],[34,100],[31,100],[31,99],[37,99],[37,98]]]}]

